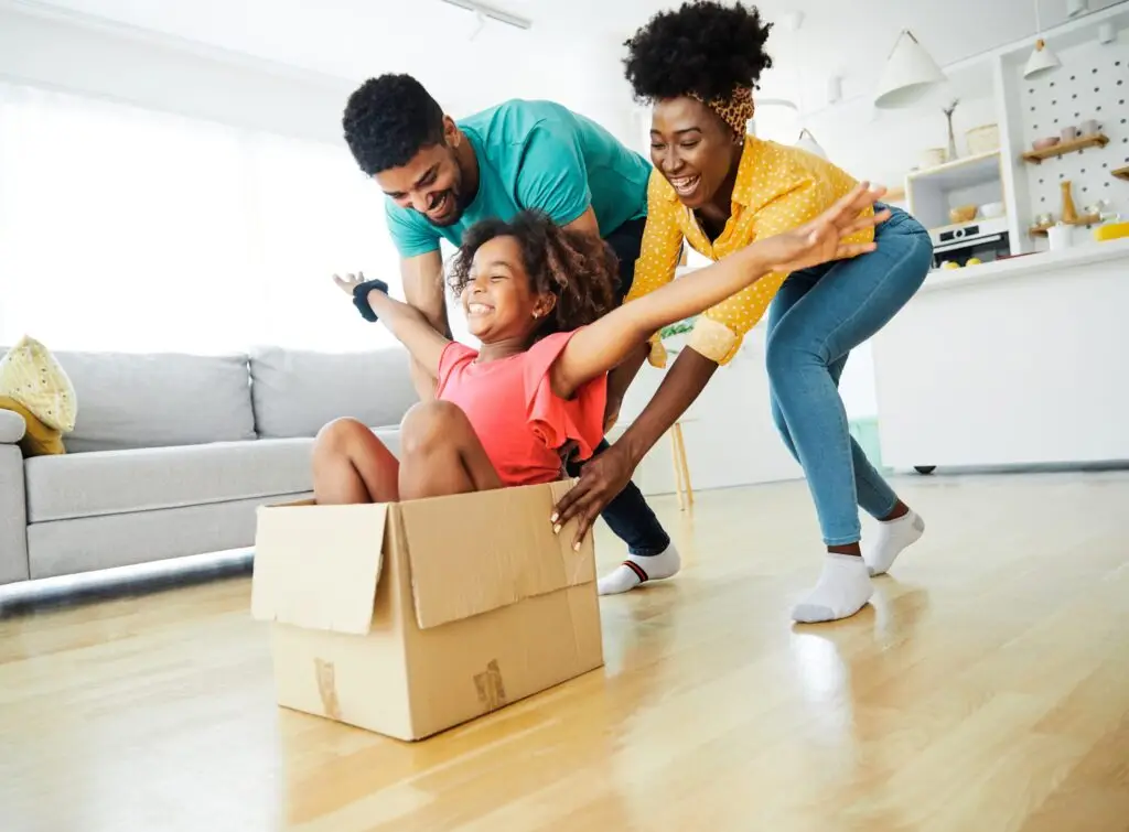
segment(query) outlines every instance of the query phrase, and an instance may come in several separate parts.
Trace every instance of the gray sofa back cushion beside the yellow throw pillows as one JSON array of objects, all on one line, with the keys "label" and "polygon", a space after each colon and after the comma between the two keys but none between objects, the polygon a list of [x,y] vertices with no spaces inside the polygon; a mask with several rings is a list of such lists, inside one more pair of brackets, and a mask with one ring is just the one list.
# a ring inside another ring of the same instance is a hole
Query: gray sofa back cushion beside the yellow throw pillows
[{"label": "gray sofa back cushion beside the yellow throw pillows", "polygon": [[70,452],[255,438],[247,357],[56,352],[78,399]]}]

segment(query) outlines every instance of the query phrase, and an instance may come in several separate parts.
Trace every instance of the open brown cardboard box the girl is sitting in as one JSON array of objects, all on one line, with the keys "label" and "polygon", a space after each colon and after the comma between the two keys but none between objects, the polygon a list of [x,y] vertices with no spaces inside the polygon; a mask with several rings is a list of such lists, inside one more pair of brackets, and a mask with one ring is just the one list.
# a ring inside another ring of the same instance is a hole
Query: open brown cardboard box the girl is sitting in
[{"label": "open brown cardboard box the girl is sitting in", "polygon": [[592,535],[549,523],[569,488],[261,508],[278,703],[420,739],[602,666]]}]

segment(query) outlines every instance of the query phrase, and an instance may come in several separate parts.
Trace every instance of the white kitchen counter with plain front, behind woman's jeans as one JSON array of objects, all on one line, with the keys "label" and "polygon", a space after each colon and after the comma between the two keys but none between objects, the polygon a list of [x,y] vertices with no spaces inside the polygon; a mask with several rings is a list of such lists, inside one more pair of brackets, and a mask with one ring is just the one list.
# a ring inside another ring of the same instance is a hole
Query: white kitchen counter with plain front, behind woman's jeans
[{"label": "white kitchen counter with plain front, behind woman's jeans", "polygon": [[935,271],[872,341],[883,462],[1129,462],[1129,239]]}]

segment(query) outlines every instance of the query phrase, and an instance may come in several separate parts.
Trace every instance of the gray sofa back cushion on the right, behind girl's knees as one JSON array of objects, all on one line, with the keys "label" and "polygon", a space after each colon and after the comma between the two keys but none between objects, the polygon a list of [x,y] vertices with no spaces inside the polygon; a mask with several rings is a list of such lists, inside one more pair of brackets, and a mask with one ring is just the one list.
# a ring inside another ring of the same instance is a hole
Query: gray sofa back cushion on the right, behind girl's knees
[{"label": "gray sofa back cushion on the right, behind girl's knees", "polygon": [[275,347],[251,353],[251,393],[259,436],[313,437],[352,417],[399,424],[418,401],[403,349],[325,353]]}]

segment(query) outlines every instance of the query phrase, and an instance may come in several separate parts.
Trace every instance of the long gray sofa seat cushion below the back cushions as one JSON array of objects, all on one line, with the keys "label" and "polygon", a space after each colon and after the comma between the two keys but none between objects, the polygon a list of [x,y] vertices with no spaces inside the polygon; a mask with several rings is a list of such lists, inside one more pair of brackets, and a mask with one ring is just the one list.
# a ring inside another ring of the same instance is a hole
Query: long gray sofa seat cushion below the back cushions
[{"label": "long gray sofa seat cushion below the back cushions", "polygon": [[25,463],[28,522],[308,491],[313,445],[252,440],[35,457]]}]

